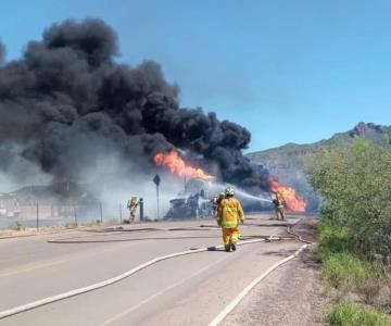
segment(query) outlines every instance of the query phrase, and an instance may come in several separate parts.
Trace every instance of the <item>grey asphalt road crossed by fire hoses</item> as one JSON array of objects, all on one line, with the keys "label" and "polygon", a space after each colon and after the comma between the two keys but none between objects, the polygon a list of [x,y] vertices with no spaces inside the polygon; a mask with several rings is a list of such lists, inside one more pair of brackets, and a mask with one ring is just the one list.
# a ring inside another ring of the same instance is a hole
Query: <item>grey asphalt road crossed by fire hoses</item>
[{"label": "grey asphalt road crossed by fire hoses", "polygon": [[[249,217],[243,239],[285,234],[283,224],[270,215]],[[156,256],[218,244],[220,230],[213,221],[1,239],[0,311],[110,279]],[[111,286],[5,317],[0,325],[207,325],[254,278],[301,244],[258,242],[230,253],[165,260]]]}]

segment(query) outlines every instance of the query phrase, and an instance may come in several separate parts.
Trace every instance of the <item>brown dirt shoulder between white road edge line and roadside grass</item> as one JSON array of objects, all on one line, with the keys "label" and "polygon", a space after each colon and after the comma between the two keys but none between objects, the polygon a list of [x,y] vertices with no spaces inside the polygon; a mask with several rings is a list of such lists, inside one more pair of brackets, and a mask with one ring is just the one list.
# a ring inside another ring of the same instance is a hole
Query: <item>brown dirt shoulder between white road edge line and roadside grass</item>
[{"label": "brown dirt shoulder between white road edge line and roadside grass", "polygon": [[[314,223],[308,220],[294,231],[314,240]],[[326,297],[319,268],[311,246],[262,280],[222,325],[324,325]]]}]

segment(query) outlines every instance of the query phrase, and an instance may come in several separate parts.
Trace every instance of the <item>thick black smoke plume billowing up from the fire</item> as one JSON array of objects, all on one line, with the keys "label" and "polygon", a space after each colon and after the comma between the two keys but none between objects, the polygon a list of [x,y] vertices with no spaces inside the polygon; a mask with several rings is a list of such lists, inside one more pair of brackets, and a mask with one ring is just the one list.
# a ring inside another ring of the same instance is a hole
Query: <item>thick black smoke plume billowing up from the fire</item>
[{"label": "thick black smoke plume billowing up from the fire", "polygon": [[[0,47],[0,62],[3,58]],[[219,177],[244,188],[264,186],[241,154],[250,133],[215,113],[179,106],[176,85],[159,64],[118,64],[115,32],[103,21],[65,21],[30,41],[21,60],[0,68],[0,168],[15,160],[54,180],[77,180],[102,153],[115,150],[148,170],[157,151],[179,148]],[[16,172],[14,172],[16,173]]]}]

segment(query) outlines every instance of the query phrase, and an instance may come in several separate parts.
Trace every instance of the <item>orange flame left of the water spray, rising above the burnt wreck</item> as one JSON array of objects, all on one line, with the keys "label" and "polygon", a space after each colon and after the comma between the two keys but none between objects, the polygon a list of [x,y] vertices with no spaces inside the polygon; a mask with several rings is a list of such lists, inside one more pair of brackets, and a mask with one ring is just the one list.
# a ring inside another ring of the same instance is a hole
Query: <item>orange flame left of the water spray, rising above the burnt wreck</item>
[{"label": "orange flame left of the water spray, rising above the burnt wreck", "polygon": [[206,174],[199,167],[186,165],[182,158],[176,150],[172,150],[169,153],[157,153],[153,158],[154,162],[159,166],[167,166],[173,174],[178,176],[188,176],[191,178],[198,178],[203,180],[213,180],[214,176]]}]

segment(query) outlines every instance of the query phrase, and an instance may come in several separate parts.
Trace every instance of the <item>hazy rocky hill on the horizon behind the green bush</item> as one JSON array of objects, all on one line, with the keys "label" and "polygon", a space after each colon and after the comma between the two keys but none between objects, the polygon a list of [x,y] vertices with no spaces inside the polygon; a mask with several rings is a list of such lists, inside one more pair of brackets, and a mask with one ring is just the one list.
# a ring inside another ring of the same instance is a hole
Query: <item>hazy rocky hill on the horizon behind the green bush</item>
[{"label": "hazy rocky hill on the horizon behind the green bush", "polygon": [[247,156],[252,162],[264,165],[281,183],[295,188],[308,200],[308,210],[316,211],[319,198],[307,181],[306,162],[324,150],[349,146],[357,137],[364,137],[377,145],[386,141],[391,146],[391,126],[361,122],[352,130],[336,134],[330,139],[306,145],[287,143],[279,148],[249,153]]}]

